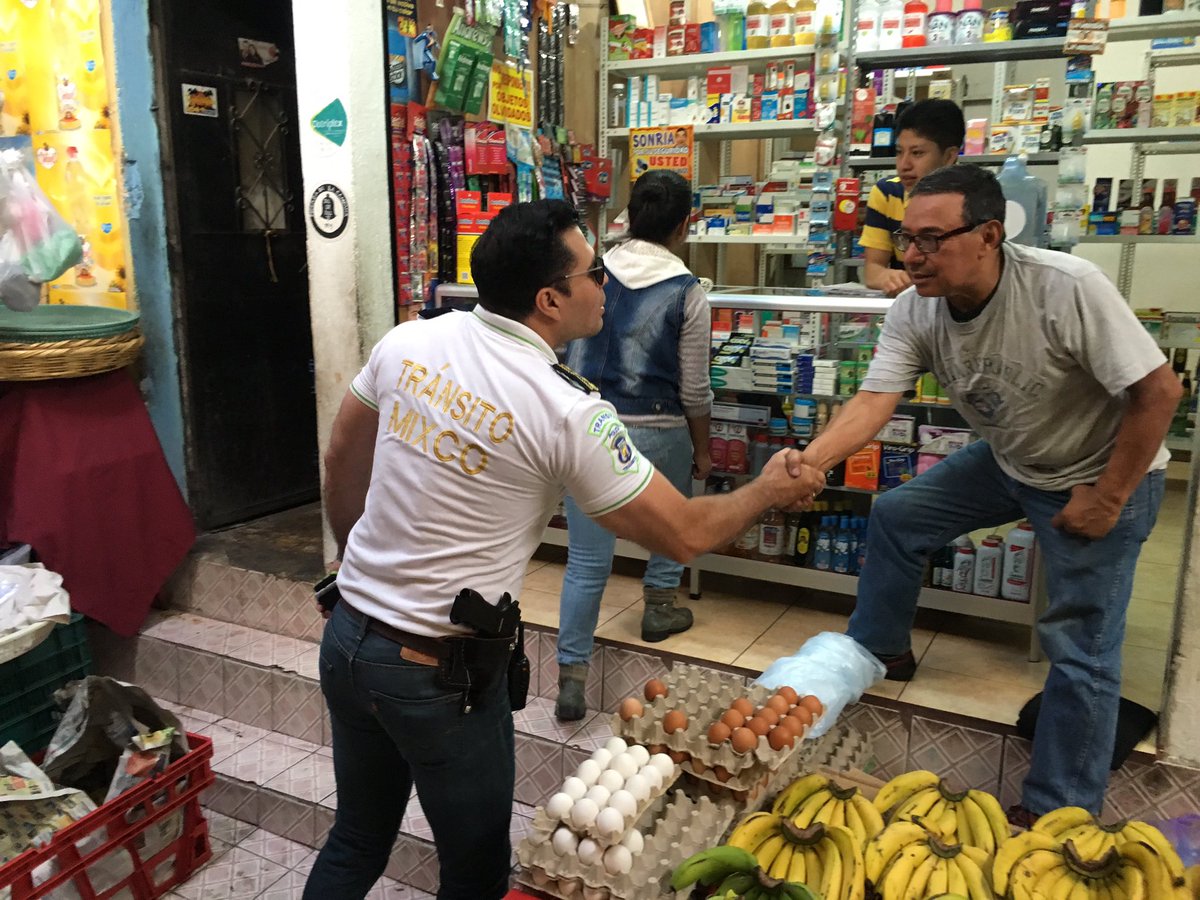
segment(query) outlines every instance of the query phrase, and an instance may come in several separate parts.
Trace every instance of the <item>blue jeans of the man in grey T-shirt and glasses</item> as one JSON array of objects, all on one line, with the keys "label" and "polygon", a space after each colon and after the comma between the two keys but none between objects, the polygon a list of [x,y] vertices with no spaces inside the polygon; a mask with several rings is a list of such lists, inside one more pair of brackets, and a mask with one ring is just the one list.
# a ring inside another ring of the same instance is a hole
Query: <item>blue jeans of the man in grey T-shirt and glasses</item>
[{"label": "blue jeans of the man in grey T-shirt and glasses", "polygon": [[1121,696],[1121,643],[1133,575],[1163,499],[1163,472],[1142,479],[1102,540],[1050,524],[1069,491],[1040,491],[1006,475],[984,442],[959,450],[880,497],[868,524],[866,565],[847,634],[881,656],[910,649],[929,556],[960,534],[1027,518],[1038,539],[1049,604],[1038,637],[1050,673],[1021,804],[1044,814],[1098,814],[1112,761]]}]

